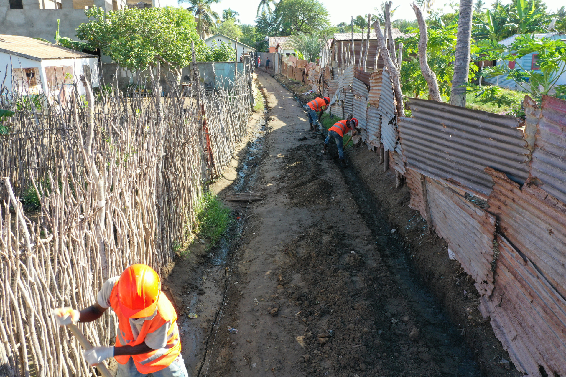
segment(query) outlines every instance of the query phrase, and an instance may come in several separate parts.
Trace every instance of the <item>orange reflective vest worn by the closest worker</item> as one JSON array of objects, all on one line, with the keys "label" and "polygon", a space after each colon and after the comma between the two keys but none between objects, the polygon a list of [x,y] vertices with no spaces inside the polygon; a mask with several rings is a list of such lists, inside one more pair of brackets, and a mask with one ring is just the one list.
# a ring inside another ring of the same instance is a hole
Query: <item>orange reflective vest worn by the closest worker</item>
[{"label": "orange reflective vest worn by the closest worker", "polygon": [[[149,374],[164,369],[179,356],[181,353],[181,341],[179,341],[177,313],[175,313],[173,305],[171,305],[171,302],[169,302],[165,294],[162,292],[159,294],[159,298],[157,298],[157,313],[153,319],[144,321],[138,339],[136,340],[134,340],[134,335],[132,335],[129,318],[122,314],[118,305],[118,281],[116,281],[114,288],[112,288],[112,293],[110,293],[110,306],[112,306],[119,321],[118,333],[116,335],[117,347],[141,344],[145,340],[145,335],[156,331],[170,320],[173,321],[167,333],[167,344],[163,348],[131,356],[134,359],[136,368],[141,374]],[[118,363],[125,364],[128,362],[128,359],[130,359],[130,356],[114,356],[114,358]]]}]

